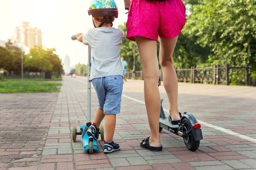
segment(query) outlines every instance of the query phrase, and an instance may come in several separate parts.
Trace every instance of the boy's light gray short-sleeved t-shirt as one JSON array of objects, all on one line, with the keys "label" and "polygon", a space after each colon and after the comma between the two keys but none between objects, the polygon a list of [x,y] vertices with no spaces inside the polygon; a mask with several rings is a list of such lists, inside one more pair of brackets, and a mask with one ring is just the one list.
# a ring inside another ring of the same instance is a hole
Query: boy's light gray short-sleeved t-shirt
[{"label": "boy's light gray short-sleeved t-shirt", "polygon": [[92,28],[83,35],[83,43],[92,49],[90,80],[106,76],[122,76],[120,59],[123,31],[113,27]]}]

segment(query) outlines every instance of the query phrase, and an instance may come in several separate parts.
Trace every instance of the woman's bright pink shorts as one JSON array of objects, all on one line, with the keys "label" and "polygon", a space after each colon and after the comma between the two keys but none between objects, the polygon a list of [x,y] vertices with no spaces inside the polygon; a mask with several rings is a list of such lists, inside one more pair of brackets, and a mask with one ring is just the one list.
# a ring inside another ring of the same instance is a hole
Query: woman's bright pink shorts
[{"label": "woman's bright pink shorts", "polygon": [[186,21],[186,7],[182,0],[146,1],[131,0],[126,38],[135,36],[157,41],[171,39],[181,34]]}]

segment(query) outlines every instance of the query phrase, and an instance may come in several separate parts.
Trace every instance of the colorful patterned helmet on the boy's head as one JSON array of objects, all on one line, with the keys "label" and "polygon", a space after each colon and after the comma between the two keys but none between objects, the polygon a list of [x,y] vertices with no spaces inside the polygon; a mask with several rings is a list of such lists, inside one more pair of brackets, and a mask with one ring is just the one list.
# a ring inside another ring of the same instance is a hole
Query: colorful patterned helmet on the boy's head
[{"label": "colorful patterned helmet on the boy's head", "polygon": [[91,0],[88,14],[94,18],[99,16],[118,17],[118,9],[114,0]]}]

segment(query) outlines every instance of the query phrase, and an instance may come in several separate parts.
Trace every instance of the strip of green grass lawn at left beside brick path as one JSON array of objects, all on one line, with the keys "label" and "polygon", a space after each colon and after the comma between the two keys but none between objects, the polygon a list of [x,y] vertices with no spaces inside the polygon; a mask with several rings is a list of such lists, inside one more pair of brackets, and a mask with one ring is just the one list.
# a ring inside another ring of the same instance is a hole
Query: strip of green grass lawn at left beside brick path
[{"label": "strip of green grass lawn at left beside brick path", "polygon": [[[24,79],[25,80],[25,79]],[[36,82],[27,81],[15,82],[9,81],[0,82],[0,93],[53,93],[60,92],[62,84],[57,82]]]}]

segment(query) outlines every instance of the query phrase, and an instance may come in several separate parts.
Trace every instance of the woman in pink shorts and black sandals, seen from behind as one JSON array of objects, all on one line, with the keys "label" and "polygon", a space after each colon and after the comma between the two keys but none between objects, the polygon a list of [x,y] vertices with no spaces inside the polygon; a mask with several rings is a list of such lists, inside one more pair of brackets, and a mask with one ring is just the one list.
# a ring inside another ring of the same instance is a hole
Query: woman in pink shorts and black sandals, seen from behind
[{"label": "woman in pink shorts and black sandals, seen from behind", "polygon": [[160,93],[158,89],[159,68],[157,40],[160,37],[160,65],[163,85],[169,104],[169,121],[180,122],[177,105],[178,83],[172,54],[178,35],[185,25],[186,8],[182,0],[124,0],[129,8],[127,38],[136,41],[143,68],[144,96],[151,136],[141,146],[152,151],[161,151],[159,135]]}]

